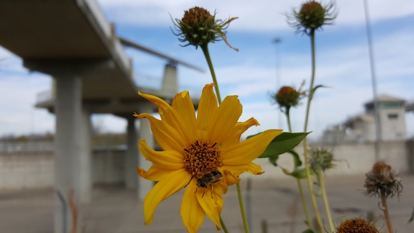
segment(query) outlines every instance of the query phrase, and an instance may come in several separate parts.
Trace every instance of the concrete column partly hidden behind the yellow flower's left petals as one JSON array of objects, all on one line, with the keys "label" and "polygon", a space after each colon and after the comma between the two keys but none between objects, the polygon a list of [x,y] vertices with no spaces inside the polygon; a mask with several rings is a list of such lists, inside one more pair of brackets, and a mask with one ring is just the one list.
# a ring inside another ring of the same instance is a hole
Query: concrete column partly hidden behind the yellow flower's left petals
[{"label": "concrete column partly hidden behind the yellow flower's left petals", "polygon": [[[143,103],[139,106],[140,112],[152,112],[153,105],[150,103]],[[150,123],[147,119],[140,119],[139,120],[139,140],[146,139],[147,144],[154,148],[154,138],[152,136]],[[141,152],[139,152],[139,159],[138,159],[138,166],[140,168],[144,168],[145,170],[148,170],[152,163],[150,161],[146,161],[144,156],[141,155]],[[138,190],[137,195],[138,199],[140,201],[144,201],[146,194],[151,190],[152,186],[154,184],[152,181],[147,181],[146,179],[139,178],[138,179]]]}]

